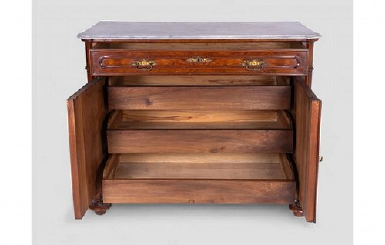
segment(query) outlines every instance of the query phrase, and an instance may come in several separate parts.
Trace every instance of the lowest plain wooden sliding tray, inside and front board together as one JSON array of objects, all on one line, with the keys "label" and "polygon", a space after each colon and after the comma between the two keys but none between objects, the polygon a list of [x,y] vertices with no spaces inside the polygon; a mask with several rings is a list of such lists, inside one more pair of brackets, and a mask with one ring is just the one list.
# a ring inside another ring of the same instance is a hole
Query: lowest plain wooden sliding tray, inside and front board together
[{"label": "lowest plain wooden sliding tray, inside and front board together", "polygon": [[104,203],[281,203],[295,198],[285,154],[111,154]]}]

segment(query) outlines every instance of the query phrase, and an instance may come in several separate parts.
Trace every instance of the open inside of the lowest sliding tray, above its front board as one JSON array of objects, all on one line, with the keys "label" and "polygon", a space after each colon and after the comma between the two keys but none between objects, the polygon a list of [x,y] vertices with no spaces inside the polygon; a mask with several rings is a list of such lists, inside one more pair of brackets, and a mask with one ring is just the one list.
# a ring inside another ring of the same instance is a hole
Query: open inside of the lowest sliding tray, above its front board
[{"label": "open inside of the lowest sliding tray, above its front board", "polygon": [[184,154],[162,155],[157,154],[155,161],[149,161],[151,156],[146,158],[142,154],[139,158],[132,154],[111,154],[104,179],[293,179],[285,170],[290,171],[285,154],[190,154],[192,158]]}]

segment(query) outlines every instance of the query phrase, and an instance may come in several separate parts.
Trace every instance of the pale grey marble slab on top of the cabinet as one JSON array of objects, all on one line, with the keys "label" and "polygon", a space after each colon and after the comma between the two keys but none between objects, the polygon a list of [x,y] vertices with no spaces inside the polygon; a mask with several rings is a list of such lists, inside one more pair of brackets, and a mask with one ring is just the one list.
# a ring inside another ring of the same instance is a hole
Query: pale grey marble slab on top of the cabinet
[{"label": "pale grey marble slab on top of the cabinet", "polygon": [[317,39],[300,22],[118,22],[100,21],[77,35],[94,40]]}]

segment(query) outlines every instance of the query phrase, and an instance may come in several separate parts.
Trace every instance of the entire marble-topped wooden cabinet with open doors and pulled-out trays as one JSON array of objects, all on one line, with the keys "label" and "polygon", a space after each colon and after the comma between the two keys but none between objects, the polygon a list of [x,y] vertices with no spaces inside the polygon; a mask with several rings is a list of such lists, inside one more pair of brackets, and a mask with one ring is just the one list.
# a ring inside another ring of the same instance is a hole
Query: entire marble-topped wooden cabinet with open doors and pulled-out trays
[{"label": "entire marble-topped wooden cabinet with open doors and pulled-out trays", "polygon": [[280,203],[315,222],[319,34],[298,22],[99,22],[78,37],[76,219],[112,203]]}]

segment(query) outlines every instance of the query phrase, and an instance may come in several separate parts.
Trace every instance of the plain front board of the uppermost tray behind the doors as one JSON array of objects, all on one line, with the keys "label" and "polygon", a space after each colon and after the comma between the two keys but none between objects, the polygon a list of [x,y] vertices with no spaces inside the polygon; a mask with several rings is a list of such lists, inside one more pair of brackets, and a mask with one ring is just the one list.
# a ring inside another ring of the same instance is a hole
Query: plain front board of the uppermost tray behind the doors
[{"label": "plain front board of the uppermost tray behind the doors", "polygon": [[288,110],[289,86],[109,87],[109,109]]}]

